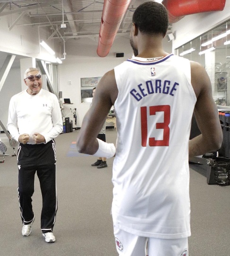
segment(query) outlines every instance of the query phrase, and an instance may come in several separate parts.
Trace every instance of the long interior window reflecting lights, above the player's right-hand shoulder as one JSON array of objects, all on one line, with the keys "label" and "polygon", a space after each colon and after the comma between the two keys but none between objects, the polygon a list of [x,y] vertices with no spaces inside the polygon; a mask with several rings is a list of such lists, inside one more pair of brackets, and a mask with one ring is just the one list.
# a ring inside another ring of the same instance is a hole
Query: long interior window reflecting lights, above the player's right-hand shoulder
[{"label": "long interior window reflecting lights, above the player's right-hand shoulder", "polygon": [[202,64],[216,104],[230,106],[230,21],[180,46],[176,54]]}]

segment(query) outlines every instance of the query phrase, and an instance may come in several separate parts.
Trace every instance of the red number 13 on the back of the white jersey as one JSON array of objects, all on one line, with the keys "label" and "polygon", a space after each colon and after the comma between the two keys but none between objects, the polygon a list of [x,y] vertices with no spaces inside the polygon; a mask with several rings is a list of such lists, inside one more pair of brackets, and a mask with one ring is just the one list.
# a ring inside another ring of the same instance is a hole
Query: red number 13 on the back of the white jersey
[{"label": "red number 13 on the back of the white jersey", "polygon": [[[156,123],[156,129],[163,129],[163,140],[158,141],[155,138],[149,138],[149,146],[169,146],[169,137],[170,137],[170,106],[162,105],[162,106],[150,106],[149,107],[149,115],[155,115],[156,112],[164,112],[164,122]],[[143,147],[147,145],[147,134],[148,134],[148,126],[147,126],[147,107],[141,107],[141,144]]]}]

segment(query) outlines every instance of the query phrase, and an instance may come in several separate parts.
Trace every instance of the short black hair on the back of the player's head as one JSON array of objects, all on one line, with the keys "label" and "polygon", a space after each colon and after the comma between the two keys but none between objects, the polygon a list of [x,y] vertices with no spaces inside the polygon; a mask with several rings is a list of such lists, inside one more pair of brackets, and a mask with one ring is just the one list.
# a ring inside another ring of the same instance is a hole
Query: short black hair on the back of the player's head
[{"label": "short black hair on the back of the player's head", "polygon": [[148,1],[139,5],[133,14],[133,23],[144,34],[166,35],[169,18],[167,9],[158,2]]}]

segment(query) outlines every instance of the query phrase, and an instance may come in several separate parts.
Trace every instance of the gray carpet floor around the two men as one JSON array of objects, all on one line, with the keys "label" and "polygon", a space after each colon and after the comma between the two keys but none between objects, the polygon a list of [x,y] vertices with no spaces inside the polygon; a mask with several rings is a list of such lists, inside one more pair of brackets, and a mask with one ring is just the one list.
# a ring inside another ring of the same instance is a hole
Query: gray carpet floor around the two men
[{"label": "gray carpet floor around the two men", "polygon": [[[13,149],[0,133],[9,154],[0,163],[0,256],[118,256],[110,214],[113,159],[107,160],[108,168],[91,167],[94,157],[77,154],[78,133],[56,138],[58,212],[53,244],[44,242],[40,230],[42,196],[37,177],[33,231],[29,237],[21,235],[17,158],[11,156]],[[114,129],[106,130],[108,142],[115,143],[116,136]],[[230,186],[207,185],[199,167],[190,165],[190,197],[189,256],[229,256]]]}]

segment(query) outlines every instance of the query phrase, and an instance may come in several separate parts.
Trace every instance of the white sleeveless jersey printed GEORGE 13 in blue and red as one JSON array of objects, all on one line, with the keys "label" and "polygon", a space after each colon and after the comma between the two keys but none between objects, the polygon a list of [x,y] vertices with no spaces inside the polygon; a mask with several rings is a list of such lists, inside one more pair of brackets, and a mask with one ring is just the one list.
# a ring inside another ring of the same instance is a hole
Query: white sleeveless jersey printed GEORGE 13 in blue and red
[{"label": "white sleeveless jersey printed GEORGE 13 in blue and red", "polygon": [[196,104],[190,62],[173,54],[134,57],[114,71],[113,223],[138,236],[188,237],[188,141]]}]

